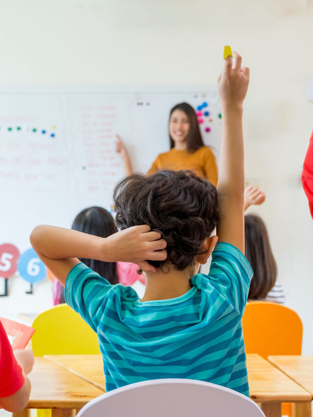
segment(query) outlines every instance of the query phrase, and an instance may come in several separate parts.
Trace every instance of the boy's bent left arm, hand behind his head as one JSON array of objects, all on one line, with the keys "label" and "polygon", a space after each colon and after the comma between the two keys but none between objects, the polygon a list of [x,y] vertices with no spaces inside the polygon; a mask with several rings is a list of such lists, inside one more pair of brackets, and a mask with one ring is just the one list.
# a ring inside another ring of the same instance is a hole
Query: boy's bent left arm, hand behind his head
[{"label": "boy's bent left arm, hand behind his head", "polygon": [[147,225],[133,226],[108,238],[100,238],[76,230],[41,225],[32,231],[30,242],[52,274],[65,285],[68,273],[80,262],[78,258],[132,262],[144,271],[155,272],[145,260],[164,261],[166,242],[160,239],[159,232],[150,229]]}]

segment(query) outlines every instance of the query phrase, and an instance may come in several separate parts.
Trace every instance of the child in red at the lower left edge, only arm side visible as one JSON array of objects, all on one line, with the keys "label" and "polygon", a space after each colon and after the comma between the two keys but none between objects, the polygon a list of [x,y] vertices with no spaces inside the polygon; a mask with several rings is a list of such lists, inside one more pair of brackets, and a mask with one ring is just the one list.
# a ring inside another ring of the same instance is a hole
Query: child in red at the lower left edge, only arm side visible
[{"label": "child in red at the lower left edge, only arm side visible", "polygon": [[13,353],[9,339],[0,322],[0,407],[12,413],[25,408],[30,395],[30,381],[25,376],[32,370],[32,351]]}]

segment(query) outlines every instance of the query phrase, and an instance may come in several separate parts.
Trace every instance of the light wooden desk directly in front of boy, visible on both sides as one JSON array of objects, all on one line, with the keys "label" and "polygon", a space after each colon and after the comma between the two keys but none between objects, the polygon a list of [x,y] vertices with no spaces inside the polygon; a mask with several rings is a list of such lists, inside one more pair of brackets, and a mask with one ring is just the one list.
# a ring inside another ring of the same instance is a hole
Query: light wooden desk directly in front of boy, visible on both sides
[{"label": "light wooden desk directly in front of boy, visible on both sides", "polygon": [[[105,392],[101,355],[47,355],[46,358]],[[261,403],[267,417],[280,417],[282,402],[295,402],[297,416],[306,416],[312,401],[309,392],[257,354],[247,354],[247,371],[250,397]]]}]

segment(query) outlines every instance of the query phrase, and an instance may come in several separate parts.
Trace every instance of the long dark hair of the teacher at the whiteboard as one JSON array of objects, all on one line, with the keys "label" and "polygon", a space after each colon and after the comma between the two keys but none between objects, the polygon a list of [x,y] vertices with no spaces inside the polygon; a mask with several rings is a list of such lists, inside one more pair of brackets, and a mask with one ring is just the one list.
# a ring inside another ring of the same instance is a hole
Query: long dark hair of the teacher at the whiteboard
[{"label": "long dark hair of the teacher at the whiteboard", "polygon": [[[187,152],[193,153],[197,151],[199,148],[201,148],[202,146],[204,146],[204,143],[201,137],[201,132],[199,129],[197,114],[194,108],[190,106],[190,104],[179,103],[176,106],[174,106],[173,109],[171,109],[169,119],[171,119],[171,115],[175,110],[183,111],[188,117],[190,126],[189,126],[189,132],[187,134]],[[171,135],[170,135],[170,146],[171,146],[171,149],[174,148],[175,146],[175,142],[172,139]]]}]

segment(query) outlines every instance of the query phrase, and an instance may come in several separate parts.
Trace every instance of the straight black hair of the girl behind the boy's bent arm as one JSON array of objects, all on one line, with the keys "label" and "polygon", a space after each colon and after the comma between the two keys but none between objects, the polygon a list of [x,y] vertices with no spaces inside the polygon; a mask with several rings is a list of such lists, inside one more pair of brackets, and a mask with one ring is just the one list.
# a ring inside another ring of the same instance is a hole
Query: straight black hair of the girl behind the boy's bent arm
[{"label": "straight black hair of the girl behind the boy's bent arm", "polygon": [[[107,238],[117,232],[111,214],[106,209],[97,206],[86,208],[78,213],[73,221],[72,229],[101,238]],[[93,271],[98,272],[111,284],[118,283],[116,262],[103,262],[97,259],[80,259],[80,261]]]}]

